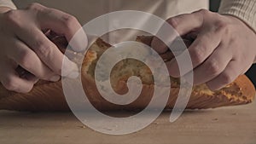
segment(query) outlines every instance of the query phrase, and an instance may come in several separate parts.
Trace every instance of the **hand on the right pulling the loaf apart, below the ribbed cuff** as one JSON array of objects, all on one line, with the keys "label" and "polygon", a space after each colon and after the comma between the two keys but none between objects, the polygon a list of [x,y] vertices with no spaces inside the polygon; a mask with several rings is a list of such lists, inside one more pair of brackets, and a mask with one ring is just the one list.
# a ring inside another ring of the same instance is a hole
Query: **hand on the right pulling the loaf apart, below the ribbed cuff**
[{"label": "hand on the right pulling the loaf apart, below the ribbed cuff", "polygon": [[[178,15],[167,22],[181,36],[197,33],[195,41],[188,48],[195,84],[206,83],[212,90],[220,89],[252,66],[256,56],[256,34],[238,18],[202,9],[192,14]],[[167,50],[156,37],[152,47],[160,54]],[[167,61],[166,65],[172,77],[188,73],[180,74],[174,59]]]}]

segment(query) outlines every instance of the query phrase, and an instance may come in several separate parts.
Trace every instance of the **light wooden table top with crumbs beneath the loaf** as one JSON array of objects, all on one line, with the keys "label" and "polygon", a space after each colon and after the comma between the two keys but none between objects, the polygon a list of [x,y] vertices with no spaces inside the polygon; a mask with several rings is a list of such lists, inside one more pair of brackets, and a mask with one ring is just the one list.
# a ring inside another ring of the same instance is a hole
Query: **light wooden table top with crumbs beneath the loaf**
[{"label": "light wooden table top with crumbs beneath the loaf", "polygon": [[1,144],[256,144],[256,102],[241,107],[188,111],[175,123],[164,112],[131,135],[103,135],[72,113],[0,111]]}]

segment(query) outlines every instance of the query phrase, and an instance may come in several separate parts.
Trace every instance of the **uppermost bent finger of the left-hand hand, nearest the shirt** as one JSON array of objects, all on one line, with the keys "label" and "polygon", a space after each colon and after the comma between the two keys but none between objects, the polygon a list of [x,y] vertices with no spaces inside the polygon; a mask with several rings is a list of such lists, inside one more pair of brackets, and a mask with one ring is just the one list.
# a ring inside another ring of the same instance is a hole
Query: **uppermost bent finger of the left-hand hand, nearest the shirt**
[{"label": "uppermost bent finger of the left-hand hand, nearest the shirt", "polygon": [[38,3],[30,6],[30,9],[38,11],[38,25],[41,29],[50,29],[58,34],[64,35],[71,42],[73,50],[82,51],[87,47],[87,37],[79,24],[79,21],[70,14],[58,9],[46,8]]}]

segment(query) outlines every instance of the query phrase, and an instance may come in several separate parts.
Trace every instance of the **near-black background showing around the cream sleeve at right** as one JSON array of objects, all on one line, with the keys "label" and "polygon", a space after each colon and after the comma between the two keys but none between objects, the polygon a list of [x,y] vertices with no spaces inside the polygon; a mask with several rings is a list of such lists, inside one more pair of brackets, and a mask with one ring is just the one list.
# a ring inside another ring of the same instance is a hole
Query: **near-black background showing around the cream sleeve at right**
[{"label": "near-black background showing around the cream sleeve at right", "polygon": [[[220,0],[210,0],[210,9],[211,11],[217,12],[219,7]],[[256,47],[256,45],[255,45]],[[256,72],[256,64],[254,64],[246,73],[247,77],[250,78],[256,86],[256,74],[253,74]]]}]

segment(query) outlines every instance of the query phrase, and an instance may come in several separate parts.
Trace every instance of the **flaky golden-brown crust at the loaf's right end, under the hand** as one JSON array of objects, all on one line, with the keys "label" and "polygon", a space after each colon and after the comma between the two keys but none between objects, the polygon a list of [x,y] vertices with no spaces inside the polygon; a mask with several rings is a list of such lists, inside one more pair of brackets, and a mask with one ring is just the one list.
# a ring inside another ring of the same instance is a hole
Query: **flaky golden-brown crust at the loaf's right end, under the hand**
[{"label": "flaky golden-brown crust at the loaf's right end, under the hand", "polygon": [[[137,41],[151,45],[153,37],[151,36],[140,36],[137,37]],[[189,42],[184,42],[189,46]],[[175,78],[172,78],[172,81]],[[173,89],[173,87],[172,87]],[[174,100],[177,99],[177,93],[172,94]],[[216,91],[211,91],[207,88],[206,84],[201,84],[193,88],[187,108],[214,108],[223,106],[235,106],[241,104],[247,104],[253,101],[255,96],[255,89],[251,81],[245,76],[241,75],[236,80]],[[167,107],[172,108],[174,101],[168,101]]]}]

